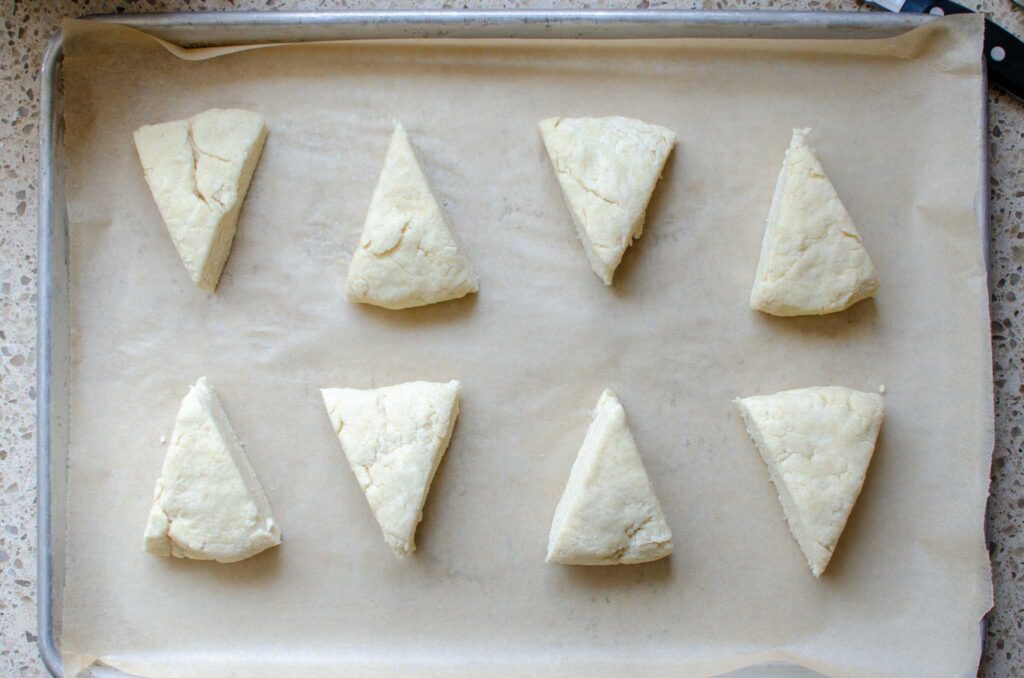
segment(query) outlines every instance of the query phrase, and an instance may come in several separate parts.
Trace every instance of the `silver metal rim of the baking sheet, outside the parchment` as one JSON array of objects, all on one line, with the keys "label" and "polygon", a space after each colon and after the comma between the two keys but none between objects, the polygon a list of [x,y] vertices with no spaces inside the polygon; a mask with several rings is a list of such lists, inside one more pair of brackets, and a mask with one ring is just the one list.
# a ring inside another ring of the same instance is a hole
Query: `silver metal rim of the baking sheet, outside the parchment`
[{"label": "silver metal rim of the baking sheet, outside the parchment", "polygon": [[[706,11],[706,10],[433,10],[347,12],[168,12],[86,17],[129,26],[181,46],[264,42],[395,38],[640,38],[728,37],[871,39],[900,35],[931,20],[928,15],[868,12]],[[54,467],[54,449],[67,448],[70,365],[68,331],[68,220],[63,196],[63,36],[57,33],[43,55],[39,135],[39,287],[37,320],[37,511],[39,651],[50,674],[62,678],[58,603],[63,584],[63,505],[67,460]],[[983,84],[984,79],[983,79]],[[987,131],[988,97],[982,97],[979,125]],[[988,152],[982,144],[976,210],[982,247],[989,262]],[[990,265],[990,262],[989,262]],[[55,483],[54,481],[57,480]],[[58,493],[54,495],[56,486]],[[54,500],[54,497],[56,498]],[[54,524],[61,527],[54,529]],[[60,539],[57,540],[57,535]],[[56,563],[56,568],[54,567]],[[984,645],[987,620],[982,620]],[[126,676],[109,667],[92,676]],[[733,678],[817,676],[784,664],[751,667]]]}]

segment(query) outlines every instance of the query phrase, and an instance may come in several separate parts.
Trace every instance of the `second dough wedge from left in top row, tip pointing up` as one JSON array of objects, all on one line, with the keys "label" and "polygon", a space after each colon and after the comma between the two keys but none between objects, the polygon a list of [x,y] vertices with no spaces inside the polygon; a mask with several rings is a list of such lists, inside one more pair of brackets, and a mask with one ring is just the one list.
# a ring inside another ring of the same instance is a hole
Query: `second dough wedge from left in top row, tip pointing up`
[{"label": "second dough wedge from left in top row, tip pointing up", "polygon": [[395,123],[362,237],[348,266],[348,299],[410,308],[458,299],[477,287],[409,135]]}]

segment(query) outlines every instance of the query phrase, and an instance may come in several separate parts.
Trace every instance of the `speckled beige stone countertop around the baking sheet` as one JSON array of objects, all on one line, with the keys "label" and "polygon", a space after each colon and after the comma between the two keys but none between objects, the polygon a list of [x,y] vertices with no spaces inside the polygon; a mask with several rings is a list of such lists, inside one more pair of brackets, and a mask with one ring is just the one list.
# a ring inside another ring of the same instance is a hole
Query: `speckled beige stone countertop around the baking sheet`
[{"label": "speckled beige stone countertop around the baking sheet", "polygon": [[[962,0],[1024,36],[1011,0]],[[545,0],[0,0],[0,674],[45,675],[36,643],[36,184],[39,68],[65,16],[181,9],[538,8]],[[565,8],[866,10],[856,0],[609,0]],[[1024,103],[989,95],[995,451],[989,549],[995,586],[979,675],[1024,675]],[[884,113],[884,112],[880,112]]]}]

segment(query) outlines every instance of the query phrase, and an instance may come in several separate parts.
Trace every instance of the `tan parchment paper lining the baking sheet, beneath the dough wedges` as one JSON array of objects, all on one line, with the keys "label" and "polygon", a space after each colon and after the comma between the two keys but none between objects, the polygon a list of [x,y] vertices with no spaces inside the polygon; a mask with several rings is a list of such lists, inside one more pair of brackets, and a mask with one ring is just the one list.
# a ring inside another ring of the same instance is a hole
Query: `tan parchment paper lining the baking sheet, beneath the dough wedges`
[{"label": "tan parchment paper lining the baking sheet, beneath the dough wedges", "polygon": [[[963,675],[991,602],[992,447],[976,16],[872,41],[361,42],[180,59],[66,25],[72,443],[61,649],[146,675],[712,675],[791,661]],[[213,105],[270,136],[215,295],[184,273],[131,143]],[[627,115],[680,143],[615,287],[589,270],[536,123]],[[348,304],[387,145],[409,130],[480,293]],[[790,128],[858,222],[880,298],[825,317],[746,307]],[[160,438],[201,375],[284,533],[222,565],[141,531]],[[380,537],[317,388],[463,382],[418,535]],[[861,499],[815,581],[730,399],[887,386]],[[676,535],[646,565],[544,562],[604,387]]]}]

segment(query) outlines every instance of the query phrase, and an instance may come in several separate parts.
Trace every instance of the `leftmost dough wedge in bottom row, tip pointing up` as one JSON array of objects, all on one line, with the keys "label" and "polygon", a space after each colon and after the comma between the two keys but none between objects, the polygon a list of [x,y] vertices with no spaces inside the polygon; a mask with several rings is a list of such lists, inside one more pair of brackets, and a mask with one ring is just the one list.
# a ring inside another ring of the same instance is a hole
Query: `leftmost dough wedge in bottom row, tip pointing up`
[{"label": "leftmost dough wedge in bottom row, tip pointing up", "polygon": [[150,553],[234,562],[281,544],[270,503],[205,378],[181,401],[145,526]]}]

